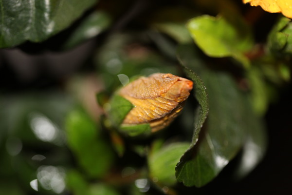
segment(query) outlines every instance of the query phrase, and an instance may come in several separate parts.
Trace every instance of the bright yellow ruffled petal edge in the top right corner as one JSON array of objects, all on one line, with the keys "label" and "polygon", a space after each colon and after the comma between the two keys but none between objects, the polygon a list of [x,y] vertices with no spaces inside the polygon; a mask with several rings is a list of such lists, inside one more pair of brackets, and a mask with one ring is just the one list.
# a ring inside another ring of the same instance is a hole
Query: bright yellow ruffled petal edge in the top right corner
[{"label": "bright yellow ruffled petal edge in the top right corner", "polygon": [[287,18],[292,18],[292,0],[242,0],[252,6],[261,6],[265,11],[282,12]]}]

